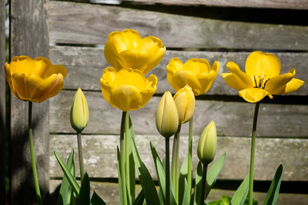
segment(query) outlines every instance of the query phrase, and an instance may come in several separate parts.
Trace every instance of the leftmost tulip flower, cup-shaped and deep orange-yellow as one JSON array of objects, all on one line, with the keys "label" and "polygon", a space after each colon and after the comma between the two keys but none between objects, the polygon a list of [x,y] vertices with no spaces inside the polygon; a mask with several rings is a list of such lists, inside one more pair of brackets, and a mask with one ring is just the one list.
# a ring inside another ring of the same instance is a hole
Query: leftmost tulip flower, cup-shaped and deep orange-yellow
[{"label": "leftmost tulip flower, cup-shaped and deep orange-yellow", "polygon": [[53,65],[44,57],[15,56],[10,64],[6,62],[4,70],[14,96],[37,103],[57,95],[67,74],[62,65]]}]

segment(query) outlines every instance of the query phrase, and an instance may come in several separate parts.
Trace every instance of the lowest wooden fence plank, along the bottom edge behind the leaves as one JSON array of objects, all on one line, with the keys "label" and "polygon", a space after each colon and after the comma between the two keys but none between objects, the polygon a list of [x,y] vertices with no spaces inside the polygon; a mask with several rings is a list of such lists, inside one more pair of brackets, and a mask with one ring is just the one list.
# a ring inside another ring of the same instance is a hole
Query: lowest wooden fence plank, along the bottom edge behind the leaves
[{"label": "lowest wooden fence plank, along the bottom edge behind the leaves", "polygon": [[[60,189],[60,180],[50,181],[50,192],[51,192],[51,203],[56,204],[58,192]],[[91,185],[91,195],[93,191],[95,192],[108,204],[108,205],[118,205],[120,204],[119,187],[117,183],[108,182],[90,182]],[[136,193],[140,191],[140,185],[136,186]],[[223,189],[211,189],[209,196],[206,201],[210,202],[213,200],[220,199],[222,195],[233,196],[235,191],[223,190]],[[253,198],[261,204],[265,199],[266,193],[264,192],[254,192]],[[306,204],[308,202],[307,194],[287,194],[280,193],[276,205],[290,205],[290,204]]]}]

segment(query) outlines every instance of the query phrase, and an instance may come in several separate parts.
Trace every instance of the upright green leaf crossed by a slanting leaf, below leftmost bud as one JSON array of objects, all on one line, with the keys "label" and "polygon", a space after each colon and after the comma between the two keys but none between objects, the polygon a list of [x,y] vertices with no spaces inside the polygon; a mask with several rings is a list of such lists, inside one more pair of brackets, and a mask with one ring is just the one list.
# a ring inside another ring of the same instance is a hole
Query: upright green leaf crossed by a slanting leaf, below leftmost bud
[{"label": "upright green leaf crossed by a slanting leaf, below leftmost bud", "polygon": [[[71,154],[68,157],[67,164],[66,164],[69,170],[71,170],[72,168],[73,157],[74,157],[74,148],[72,148]],[[60,191],[59,191],[57,205],[67,205],[68,187],[69,187],[69,183],[68,183],[66,176],[64,175],[62,179]]]}]

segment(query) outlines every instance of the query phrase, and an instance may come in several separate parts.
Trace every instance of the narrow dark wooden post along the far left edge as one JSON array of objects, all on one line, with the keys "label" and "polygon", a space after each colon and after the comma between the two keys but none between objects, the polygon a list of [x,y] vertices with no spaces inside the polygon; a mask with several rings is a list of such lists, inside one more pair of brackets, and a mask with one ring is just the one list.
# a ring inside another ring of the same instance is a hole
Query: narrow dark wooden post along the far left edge
[{"label": "narrow dark wooden post along the far left edge", "polygon": [[0,205],[6,202],[5,193],[5,1],[0,1]]}]

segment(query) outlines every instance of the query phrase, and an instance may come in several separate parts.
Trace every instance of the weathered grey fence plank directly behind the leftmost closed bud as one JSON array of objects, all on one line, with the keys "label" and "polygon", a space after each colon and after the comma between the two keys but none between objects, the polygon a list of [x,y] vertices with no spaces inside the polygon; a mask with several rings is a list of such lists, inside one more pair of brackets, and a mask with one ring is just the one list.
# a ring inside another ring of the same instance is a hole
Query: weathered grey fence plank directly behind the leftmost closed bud
[{"label": "weathered grey fence plank directly behind the leftmost closed bud", "polygon": [[[50,100],[50,131],[75,133],[70,124],[70,107],[75,91],[63,90]],[[101,92],[84,91],[90,120],[84,134],[119,134],[122,111],[113,108]],[[155,116],[160,97],[152,99],[142,108],[130,111],[136,134],[158,135]],[[211,120],[220,136],[251,136],[254,104],[197,100],[193,117],[193,131],[200,135]],[[257,123],[257,136],[307,137],[308,105],[261,103]],[[182,134],[188,135],[188,123]]]}]

